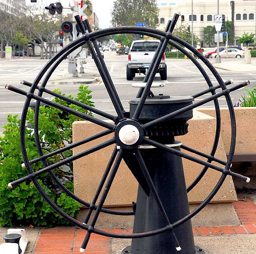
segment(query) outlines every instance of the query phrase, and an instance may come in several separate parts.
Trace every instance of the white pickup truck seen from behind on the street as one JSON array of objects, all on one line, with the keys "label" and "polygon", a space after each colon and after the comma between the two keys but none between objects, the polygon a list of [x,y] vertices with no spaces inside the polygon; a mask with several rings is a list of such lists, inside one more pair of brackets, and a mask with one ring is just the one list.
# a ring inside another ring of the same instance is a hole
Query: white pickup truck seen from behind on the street
[{"label": "white pickup truck seen from behind on the street", "polygon": [[[131,43],[126,67],[127,80],[133,80],[136,73],[146,74],[159,43],[159,40],[137,40]],[[165,55],[162,56],[157,72],[161,80],[167,80]]]}]

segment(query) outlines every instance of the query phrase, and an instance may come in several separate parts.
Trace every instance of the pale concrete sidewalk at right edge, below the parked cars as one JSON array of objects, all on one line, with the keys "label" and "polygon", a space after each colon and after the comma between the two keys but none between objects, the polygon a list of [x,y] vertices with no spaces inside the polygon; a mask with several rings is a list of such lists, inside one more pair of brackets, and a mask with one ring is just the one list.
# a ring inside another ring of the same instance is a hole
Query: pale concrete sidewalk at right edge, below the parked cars
[{"label": "pale concrete sidewalk at right edge, below the parked cars", "polygon": [[213,63],[214,68],[221,70],[228,70],[231,72],[242,72],[256,74],[256,58],[252,58],[251,63],[246,63],[244,58],[232,59],[226,61],[224,59],[221,63]]}]

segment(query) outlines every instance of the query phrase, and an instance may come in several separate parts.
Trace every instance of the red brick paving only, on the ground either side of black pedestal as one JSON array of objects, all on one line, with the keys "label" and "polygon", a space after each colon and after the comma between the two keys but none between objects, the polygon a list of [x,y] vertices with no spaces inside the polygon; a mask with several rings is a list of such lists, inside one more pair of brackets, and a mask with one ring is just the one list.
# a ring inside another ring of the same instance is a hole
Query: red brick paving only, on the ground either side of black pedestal
[{"label": "red brick paving only, on the ground either side of black pedestal", "polygon": [[[196,227],[194,236],[256,234],[256,205],[250,199],[242,199],[233,203],[241,221],[238,226]],[[102,229],[115,234],[131,234],[132,230]],[[80,254],[79,249],[86,232],[76,227],[55,227],[42,229],[33,254]],[[86,248],[86,254],[111,254],[110,238],[92,234]]]}]

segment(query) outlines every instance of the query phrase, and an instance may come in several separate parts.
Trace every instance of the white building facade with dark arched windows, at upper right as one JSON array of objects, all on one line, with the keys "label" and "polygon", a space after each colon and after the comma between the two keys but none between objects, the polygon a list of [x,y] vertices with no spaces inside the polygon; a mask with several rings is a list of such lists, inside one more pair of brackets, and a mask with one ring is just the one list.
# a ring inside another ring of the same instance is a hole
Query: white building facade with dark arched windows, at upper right
[{"label": "white building facade with dark arched windows, at upper right", "polygon": [[[235,38],[243,33],[256,33],[256,0],[235,0],[234,26]],[[169,18],[177,11],[181,12],[177,27],[181,23],[191,28],[192,0],[157,0],[159,8],[158,28],[165,29]],[[194,33],[203,39],[204,27],[214,26],[214,14],[217,14],[217,0],[193,0]],[[231,21],[231,0],[219,0],[219,14]],[[183,20],[183,21],[181,21]]]}]

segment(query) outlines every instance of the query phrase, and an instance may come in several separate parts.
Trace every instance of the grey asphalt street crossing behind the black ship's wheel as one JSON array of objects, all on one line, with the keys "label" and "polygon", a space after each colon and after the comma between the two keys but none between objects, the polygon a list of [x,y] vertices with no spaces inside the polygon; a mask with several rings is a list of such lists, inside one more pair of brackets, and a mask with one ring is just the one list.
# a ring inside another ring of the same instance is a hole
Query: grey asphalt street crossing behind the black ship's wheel
[{"label": "grey asphalt street crossing behind the black ship's wheel", "polygon": [[[117,55],[115,51],[104,51],[104,60],[106,62],[110,76],[114,82],[117,89],[119,97],[123,103],[125,110],[129,110],[129,100],[135,98],[138,88],[131,87],[134,82],[142,82],[144,74],[136,74],[133,81],[127,81],[126,79],[126,65],[127,65],[127,55]],[[215,59],[210,59],[213,63]],[[14,92],[10,92],[4,89],[6,84],[11,84],[22,88],[26,91],[29,90],[27,86],[21,85],[20,80],[26,80],[33,82],[37,74],[40,72],[42,67],[47,63],[48,60],[35,59],[26,57],[15,58],[12,60],[0,60],[0,131],[3,131],[3,125],[5,125],[6,117],[9,113],[21,115],[25,97]],[[231,61],[231,59],[221,59],[224,61]],[[244,59],[232,59],[232,61],[244,61]],[[202,63],[201,61],[199,61]],[[188,96],[205,90],[208,88],[202,74],[194,66],[194,64],[189,60],[185,59],[166,59],[167,63],[167,80],[160,80],[159,74],[156,75],[155,82],[164,82],[166,86],[164,88],[152,88],[154,94],[169,94],[169,95],[183,95]],[[78,64],[78,70],[79,70]],[[212,84],[216,85],[217,82],[211,72],[203,64],[204,69],[212,80]],[[84,65],[85,73],[98,73],[94,60],[89,56],[87,58],[87,64]],[[250,80],[251,86],[256,85],[256,74],[231,72],[227,70],[217,69],[221,78],[223,80],[229,80],[233,78],[235,84],[242,82],[244,80]],[[56,69],[53,76],[51,76],[50,81],[59,80],[61,77],[67,75],[68,65],[67,59],[63,61],[60,66]],[[75,94],[78,91],[79,85],[47,85],[50,90],[59,88],[60,91],[67,94]],[[250,88],[249,87],[249,88]],[[110,98],[106,92],[103,82],[89,84],[89,89],[92,90],[92,100],[95,102],[95,107],[102,111],[106,111],[110,114],[115,115],[114,107],[110,101]],[[218,91],[218,90],[217,90]],[[231,93],[231,98],[233,103],[237,102],[241,95],[244,95],[244,88]],[[210,96],[210,94],[205,94],[200,98],[196,98],[196,101],[202,100]],[[50,97],[48,94],[44,94],[43,97]],[[219,104],[225,107],[226,100],[224,97],[219,98]],[[209,102],[202,107],[211,107],[213,102]]]}]

